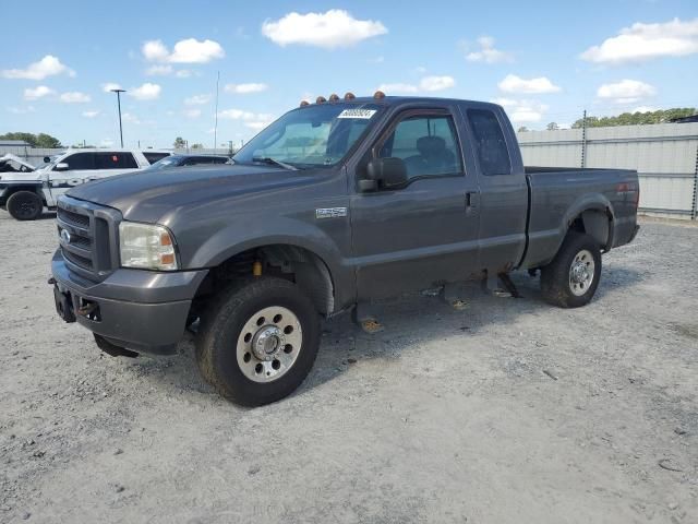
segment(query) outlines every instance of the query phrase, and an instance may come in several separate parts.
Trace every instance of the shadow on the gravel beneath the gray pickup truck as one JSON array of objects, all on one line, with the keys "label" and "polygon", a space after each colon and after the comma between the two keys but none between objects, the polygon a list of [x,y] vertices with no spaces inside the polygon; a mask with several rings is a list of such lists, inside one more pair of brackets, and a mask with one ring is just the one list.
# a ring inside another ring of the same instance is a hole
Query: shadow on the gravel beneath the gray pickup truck
[{"label": "shadow on the gravel beneath the gray pickup truck", "polygon": [[[554,306],[543,301],[539,278],[524,273],[512,275],[521,298],[497,297],[483,293],[480,283],[468,283],[462,302],[455,308],[437,291],[404,295],[375,305],[375,314],[383,330],[369,334],[341,314],[323,323],[323,334],[315,366],[305,382],[289,397],[303,395],[314,388],[347,372],[352,366],[369,360],[397,360],[407,352],[437,340],[470,336],[489,330],[493,324],[506,334],[519,317],[535,317]],[[641,281],[641,275],[626,267],[604,270],[594,302],[612,299],[616,293],[627,293]],[[564,310],[559,310],[561,312]],[[575,310],[568,310],[575,311]],[[517,332],[518,333],[518,332]],[[180,392],[216,395],[198,374],[194,355],[194,337],[188,334],[172,357],[140,357],[131,369],[140,377],[163,388]]]}]

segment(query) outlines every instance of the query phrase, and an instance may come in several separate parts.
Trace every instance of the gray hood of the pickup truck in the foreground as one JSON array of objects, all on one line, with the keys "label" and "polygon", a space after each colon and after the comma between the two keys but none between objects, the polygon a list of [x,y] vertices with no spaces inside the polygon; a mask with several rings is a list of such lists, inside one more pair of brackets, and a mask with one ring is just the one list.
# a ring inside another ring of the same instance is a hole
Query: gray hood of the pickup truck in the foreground
[{"label": "gray hood of the pickup truck in the foreground", "polygon": [[134,222],[167,224],[183,207],[312,182],[309,171],[272,166],[224,165],[137,171],[95,180],[67,194],[107,205]]}]

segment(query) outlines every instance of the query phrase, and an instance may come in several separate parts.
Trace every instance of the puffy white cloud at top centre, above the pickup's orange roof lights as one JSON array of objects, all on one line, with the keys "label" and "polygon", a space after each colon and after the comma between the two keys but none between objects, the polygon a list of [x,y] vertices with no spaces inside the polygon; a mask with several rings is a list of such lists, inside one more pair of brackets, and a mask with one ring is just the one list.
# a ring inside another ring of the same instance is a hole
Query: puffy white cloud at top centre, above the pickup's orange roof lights
[{"label": "puffy white cloud at top centre, above the pickup's orange roof lights", "polygon": [[292,44],[325,49],[351,47],[387,32],[381,22],[357,20],[341,9],[330,9],[326,13],[292,12],[279,20],[267,20],[262,24],[262,34],[281,47]]}]

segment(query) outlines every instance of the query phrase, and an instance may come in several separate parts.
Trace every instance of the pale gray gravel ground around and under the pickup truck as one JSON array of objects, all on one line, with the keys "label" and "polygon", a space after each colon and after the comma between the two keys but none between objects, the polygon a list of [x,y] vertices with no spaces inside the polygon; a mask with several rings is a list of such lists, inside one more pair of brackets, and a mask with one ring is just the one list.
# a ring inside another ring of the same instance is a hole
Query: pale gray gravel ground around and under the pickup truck
[{"label": "pale gray gravel ground around and under the pickup truck", "polygon": [[0,212],[0,522],[698,522],[698,227],[643,221],[586,308],[517,274],[334,319],[303,386],[243,409],[191,341],[111,358],[62,323],[52,218]]}]

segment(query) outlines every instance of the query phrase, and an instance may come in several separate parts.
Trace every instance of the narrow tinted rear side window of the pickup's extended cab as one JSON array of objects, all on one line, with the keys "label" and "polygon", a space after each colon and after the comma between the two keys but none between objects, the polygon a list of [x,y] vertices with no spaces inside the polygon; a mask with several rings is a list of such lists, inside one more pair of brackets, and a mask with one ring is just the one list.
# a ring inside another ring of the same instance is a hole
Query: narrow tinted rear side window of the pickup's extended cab
[{"label": "narrow tinted rear side window of the pickup's extended cab", "polygon": [[510,175],[512,160],[502,126],[488,109],[468,109],[470,129],[476,139],[476,152],[483,175]]}]

